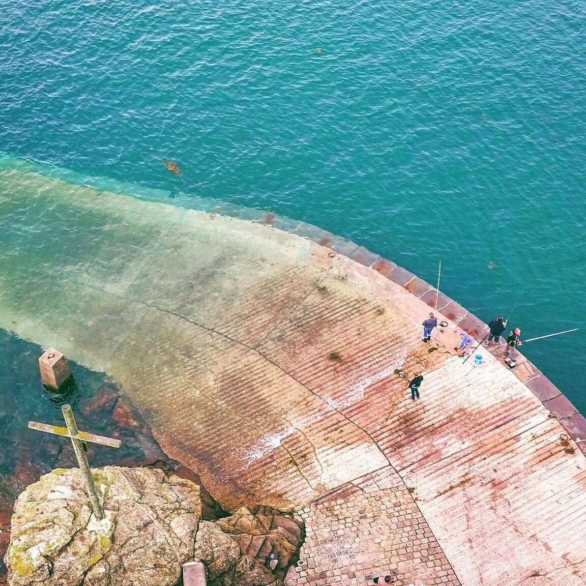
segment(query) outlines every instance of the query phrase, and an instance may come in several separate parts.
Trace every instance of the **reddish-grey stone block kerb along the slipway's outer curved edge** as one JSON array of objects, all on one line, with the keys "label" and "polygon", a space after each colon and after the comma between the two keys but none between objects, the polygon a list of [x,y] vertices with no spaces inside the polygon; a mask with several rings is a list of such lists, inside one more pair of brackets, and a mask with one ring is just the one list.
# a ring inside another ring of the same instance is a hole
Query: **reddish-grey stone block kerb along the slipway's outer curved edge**
[{"label": "reddish-grey stone block kerb along the slipway's outer curved edge", "polygon": [[[336,236],[336,234],[312,226],[312,224],[298,222],[297,220],[278,216],[272,212],[263,212],[263,210],[255,210],[231,204],[223,205],[223,203],[216,202],[213,207],[210,207],[209,211],[243,220],[251,220],[292,234],[297,234],[297,236],[311,240],[320,246],[330,248],[335,253],[348,257],[365,267],[372,268],[389,279],[389,281],[401,285],[401,287],[427,303],[430,307],[435,306],[437,289],[433,285],[430,285],[407,269],[393,263],[393,261],[387,260],[379,254],[372,253],[363,246],[359,246],[352,240]],[[459,328],[466,331],[472,330],[474,332],[473,337],[477,342],[480,342],[488,332],[488,325],[485,322],[474,314],[471,314],[455,302],[454,299],[447,297],[442,292],[438,293],[438,311],[441,311],[448,319],[451,319]],[[580,451],[586,455],[586,417],[578,413],[577,408],[565,397],[560,389],[524,356],[517,363],[515,369],[513,369],[513,373],[517,376],[517,379],[522,381],[539,398],[543,406],[560,422],[564,430],[576,442]]]}]

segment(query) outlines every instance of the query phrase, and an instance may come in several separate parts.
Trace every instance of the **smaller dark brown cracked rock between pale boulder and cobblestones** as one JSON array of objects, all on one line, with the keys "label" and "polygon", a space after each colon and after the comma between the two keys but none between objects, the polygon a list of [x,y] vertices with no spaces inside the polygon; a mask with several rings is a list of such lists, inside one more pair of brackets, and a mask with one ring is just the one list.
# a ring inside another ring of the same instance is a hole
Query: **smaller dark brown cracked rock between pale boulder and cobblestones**
[{"label": "smaller dark brown cracked rock between pale boulder and cobblestones", "polygon": [[194,555],[206,566],[209,586],[272,586],[282,584],[304,537],[292,515],[242,507],[231,517],[200,523]]}]

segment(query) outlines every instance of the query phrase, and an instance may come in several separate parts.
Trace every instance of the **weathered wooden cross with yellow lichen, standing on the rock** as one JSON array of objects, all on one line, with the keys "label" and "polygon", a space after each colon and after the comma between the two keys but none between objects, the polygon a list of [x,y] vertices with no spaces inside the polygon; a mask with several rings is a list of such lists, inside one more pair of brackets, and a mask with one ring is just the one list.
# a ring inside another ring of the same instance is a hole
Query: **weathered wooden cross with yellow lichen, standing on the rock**
[{"label": "weathered wooden cross with yellow lichen, standing on the rock", "polygon": [[94,511],[94,515],[96,515],[96,519],[103,519],[104,509],[102,509],[100,504],[98,491],[96,490],[93,476],[91,476],[90,465],[87,462],[86,442],[109,445],[112,448],[120,448],[121,441],[103,437],[102,435],[90,434],[87,431],[79,431],[71,407],[69,405],[63,405],[61,410],[63,411],[63,417],[65,418],[67,427],[38,423],[38,421],[29,421],[29,428],[31,430],[46,431],[49,434],[62,435],[63,437],[70,438],[71,444],[73,444],[73,451],[75,452],[77,462],[79,463],[81,476],[86,485],[87,494],[90,497],[91,508]]}]

